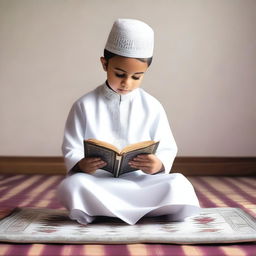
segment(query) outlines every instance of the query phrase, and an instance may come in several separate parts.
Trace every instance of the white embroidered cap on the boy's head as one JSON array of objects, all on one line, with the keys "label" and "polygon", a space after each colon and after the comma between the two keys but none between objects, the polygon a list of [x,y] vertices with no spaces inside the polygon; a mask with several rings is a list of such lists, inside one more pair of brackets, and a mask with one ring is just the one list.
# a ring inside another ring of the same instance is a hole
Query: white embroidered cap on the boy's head
[{"label": "white embroidered cap on the boy's head", "polygon": [[153,56],[154,31],[146,23],[134,19],[118,19],[109,33],[105,49],[130,58]]}]

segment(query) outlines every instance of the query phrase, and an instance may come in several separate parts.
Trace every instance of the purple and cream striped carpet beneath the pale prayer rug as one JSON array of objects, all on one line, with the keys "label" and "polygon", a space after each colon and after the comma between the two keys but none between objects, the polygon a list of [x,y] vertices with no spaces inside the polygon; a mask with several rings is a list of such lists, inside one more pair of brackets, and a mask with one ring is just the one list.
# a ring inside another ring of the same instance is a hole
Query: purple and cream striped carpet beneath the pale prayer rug
[{"label": "purple and cream striped carpet beneath the pale prayer rug", "polygon": [[[63,176],[0,175],[0,217],[15,207],[62,208],[55,197]],[[202,207],[239,207],[256,217],[256,177],[189,177]],[[0,243],[4,256],[255,256],[256,244],[55,245]]]}]

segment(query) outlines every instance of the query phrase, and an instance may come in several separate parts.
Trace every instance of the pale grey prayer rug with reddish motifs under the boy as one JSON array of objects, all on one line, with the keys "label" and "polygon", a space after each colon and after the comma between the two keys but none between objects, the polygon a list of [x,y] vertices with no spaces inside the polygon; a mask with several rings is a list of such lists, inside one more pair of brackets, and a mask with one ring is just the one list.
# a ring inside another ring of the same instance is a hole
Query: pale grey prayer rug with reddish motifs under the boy
[{"label": "pale grey prayer rug with reddish motifs under the boy", "polygon": [[0,241],[65,244],[212,244],[256,241],[256,220],[239,208],[203,208],[184,222],[168,216],[143,218],[127,225],[98,217],[83,226],[62,209],[17,208],[0,221]]}]

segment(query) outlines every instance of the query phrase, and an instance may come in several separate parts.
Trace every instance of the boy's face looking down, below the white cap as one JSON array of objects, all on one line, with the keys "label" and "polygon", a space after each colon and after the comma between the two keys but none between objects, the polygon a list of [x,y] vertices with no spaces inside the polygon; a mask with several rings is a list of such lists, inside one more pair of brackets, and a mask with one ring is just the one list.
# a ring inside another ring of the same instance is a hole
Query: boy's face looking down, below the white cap
[{"label": "boy's face looking down, below the white cap", "polygon": [[108,83],[118,94],[127,94],[138,88],[148,64],[133,58],[115,56],[108,63],[101,57],[103,69],[107,72]]}]

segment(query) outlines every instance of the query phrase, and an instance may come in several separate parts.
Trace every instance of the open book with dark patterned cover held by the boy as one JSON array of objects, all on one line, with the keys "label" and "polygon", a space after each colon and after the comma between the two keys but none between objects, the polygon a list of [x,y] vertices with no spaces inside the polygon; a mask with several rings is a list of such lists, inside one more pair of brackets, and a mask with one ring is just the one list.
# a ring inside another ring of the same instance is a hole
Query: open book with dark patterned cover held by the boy
[{"label": "open book with dark patterned cover held by the boy", "polygon": [[126,146],[119,150],[114,145],[104,141],[89,139],[84,141],[85,157],[100,157],[107,163],[102,169],[111,172],[114,177],[118,177],[126,172],[136,171],[128,163],[140,154],[154,154],[159,142],[143,141]]}]

